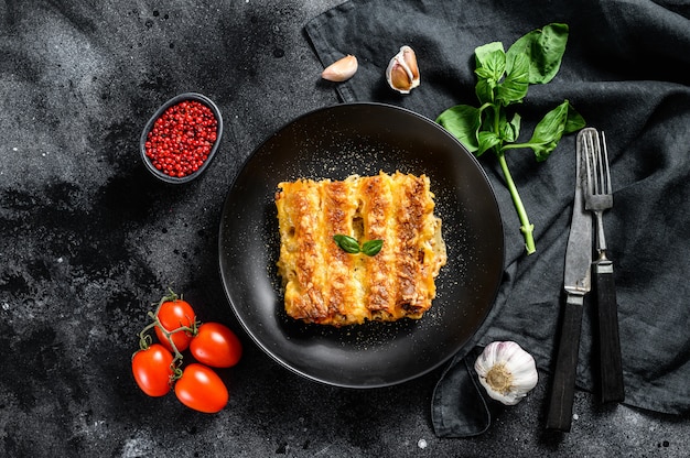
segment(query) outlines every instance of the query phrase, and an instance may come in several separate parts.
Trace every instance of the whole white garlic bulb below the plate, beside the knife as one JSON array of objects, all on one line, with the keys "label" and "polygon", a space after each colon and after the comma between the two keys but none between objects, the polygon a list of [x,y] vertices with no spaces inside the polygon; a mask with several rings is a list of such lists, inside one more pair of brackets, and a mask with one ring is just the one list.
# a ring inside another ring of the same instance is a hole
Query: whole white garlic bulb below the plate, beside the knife
[{"label": "whole white garlic bulb below the plate, beside the knife", "polygon": [[506,405],[515,405],[537,386],[535,359],[516,342],[492,342],[474,363],[487,394]]}]

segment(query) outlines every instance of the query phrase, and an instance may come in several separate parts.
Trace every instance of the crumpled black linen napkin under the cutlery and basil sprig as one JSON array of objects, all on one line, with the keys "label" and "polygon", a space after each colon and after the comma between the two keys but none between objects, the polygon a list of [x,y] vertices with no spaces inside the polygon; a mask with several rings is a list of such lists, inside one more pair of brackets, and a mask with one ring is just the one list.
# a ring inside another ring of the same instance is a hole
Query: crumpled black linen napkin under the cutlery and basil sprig
[{"label": "crumpled black linen napkin under the cutlery and basil sprig", "polygon": [[[525,140],[563,99],[587,126],[606,132],[614,208],[604,217],[615,265],[626,403],[651,411],[690,412],[690,6],[619,0],[353,0],[313,19],[306,33],[323,65],[346,54],[359,61],[348,81],[333,87],[345,102],[379,101],[431,119],[457,105],[476,105],[475,47],[506,48],[551,22],[570,26],[561,69],[532,86],[522,116]],[[414,48],[421,86],[410,95],[385,79],[401,45]],[[472,364],[483,346],[514,340],[549,371],[562,304],[565,243],[574,190],[574,135],[548,161],[529,150],[507,160],[535,225],[537,252],[524,251],[519,221],[493,156],[481,157],[505,228],[504,279],[495,306],[465,350],[449,363],[434,391],[439,436],[482,433],[490,423]],[[578,386],[594,390],[596,342],[585,308]],[[540,382],[543,383],[543,382]]]}]

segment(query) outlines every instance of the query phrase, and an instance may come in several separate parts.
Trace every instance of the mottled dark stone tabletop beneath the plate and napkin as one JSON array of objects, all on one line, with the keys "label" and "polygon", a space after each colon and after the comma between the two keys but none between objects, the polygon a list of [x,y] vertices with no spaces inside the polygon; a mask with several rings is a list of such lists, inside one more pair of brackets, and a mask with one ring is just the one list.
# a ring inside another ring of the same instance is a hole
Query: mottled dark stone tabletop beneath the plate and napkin
[{"label": "mottled dark stone tabletop beneath the plate and napkin", "polygon": [[[438,439],[440,371],[402,385],[306,381],[240,330],[218,276],[217,227],[242,161],[294,117],[336,103],[303,34],[331,1],[86,0],[0,4],[0,456],[687,456],[688,418],[575,397],[543,430],[548,375],[472,439]],[[154,182],[138,141],[166,99],[200,91],[225,134],[202,179]],[[246,353],[228,406],[142,394],[130,357],[171,286]]]}]

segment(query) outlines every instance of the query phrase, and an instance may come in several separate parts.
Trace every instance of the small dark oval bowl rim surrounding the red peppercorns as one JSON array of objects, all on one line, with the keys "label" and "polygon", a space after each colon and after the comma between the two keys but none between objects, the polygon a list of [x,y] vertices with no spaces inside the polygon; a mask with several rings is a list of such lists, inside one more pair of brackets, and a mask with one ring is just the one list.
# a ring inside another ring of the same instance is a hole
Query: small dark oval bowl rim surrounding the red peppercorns
[{"label": "small dark oval bowl rim surrounding the red peppercorns", "polygon": [[[147,156],[145,142],[148,140],[149,132],[153,128],[153,123],[155,122],[155,120],[159,119],[161,117],[161,115],[163,115],[163,112],[168,108],[170,108],[170,107],[172,107],[174,105],[177,105],[180,102],[183,102],[185,100],[196,100],[196,101],[200,101],[200,102],[204,103],[206,107],[211,108],[211,110],[213,111],[213,115],[216,118],[218,124],[216,127],[216,141],[214,142],[214,144],[213,144],[213,146],[211,149],[211,152],[208,153],[208,157],[206,157],[206,161],[204,161],[202,166],[200,166],[196,172],[194,172],[194,173],[192,173],[190,175],[185,175],[183,177],[175,177],[175,176],[171,176],[171,175],[164,174],[163,172],[159,171],[158,168],[155,168],[153,166],[153,164],[151,163],[151,160]],[[155,113],[153,113],[151,119],[149,119],[149,122],[147,122],[147,126],[143,128],[143,132],[141,133],[141,139],[139,141],[139,150],[141,152],[141,160],[143,161],[144,165],[147,166],[147,170],[149,172],[151,172],[151,174],[153,176],[155,176],[158,179],[160,179],[162,182],[172,183],[172,184],[188,183],[188,182],[197,178],[198,176],[201,176],[201,174],[204,173],[206,167],[208,167],[208,164],[211,164],[211,161],[213,161],[214,156],[216,155],[216,151],[218,151],[218,144],[220,144],[220,137],[222,135],[223,135],[223,117],[220,116],[220,110],[218,109],[218,107],[208,97],[206,97],[206,96],[204,96],[202,94],[196,94],[196,92],[180,94],[179,96],[175,96],[172,99],[168,100],[165,103],[163,103],[155,111]]]}]

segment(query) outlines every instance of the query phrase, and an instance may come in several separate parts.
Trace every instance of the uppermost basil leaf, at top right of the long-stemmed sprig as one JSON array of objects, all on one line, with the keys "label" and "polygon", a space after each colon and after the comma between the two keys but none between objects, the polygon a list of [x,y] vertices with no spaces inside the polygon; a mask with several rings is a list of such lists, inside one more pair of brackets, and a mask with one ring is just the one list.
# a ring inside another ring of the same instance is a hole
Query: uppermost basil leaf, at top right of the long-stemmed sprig
[{"label": "uppermost basil leaf, at top right of the long-stemmed sprig", "polygon": [[536,29],[516,41],[509,48],[507,62],[517,62],[517,55],[529,61],[528,83],[549,83],[561,67],[568,43],[568,24],[551,23]]}]

